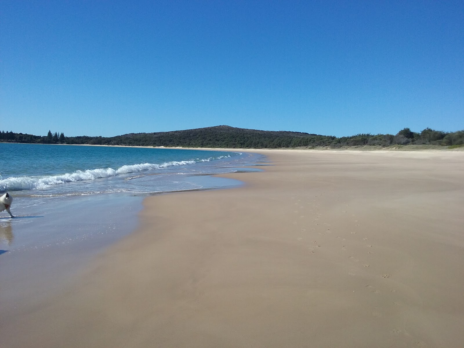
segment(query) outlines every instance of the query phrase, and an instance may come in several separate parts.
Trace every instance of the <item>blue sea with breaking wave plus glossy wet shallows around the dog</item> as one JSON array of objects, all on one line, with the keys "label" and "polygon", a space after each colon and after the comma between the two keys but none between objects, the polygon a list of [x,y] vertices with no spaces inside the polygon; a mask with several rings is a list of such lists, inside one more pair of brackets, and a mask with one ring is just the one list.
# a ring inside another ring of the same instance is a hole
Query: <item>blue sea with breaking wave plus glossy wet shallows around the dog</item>
[{"label": "blue sea with breaking wave plus glossy wet shallows around the dog", "polygon": [[3,310],[49,292],[133,232],[144,197],[236,187],[213,174],[265,161],[239,151],[0,143],[0,193],[13,197],[16,216],[0,213]]}]

